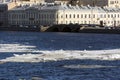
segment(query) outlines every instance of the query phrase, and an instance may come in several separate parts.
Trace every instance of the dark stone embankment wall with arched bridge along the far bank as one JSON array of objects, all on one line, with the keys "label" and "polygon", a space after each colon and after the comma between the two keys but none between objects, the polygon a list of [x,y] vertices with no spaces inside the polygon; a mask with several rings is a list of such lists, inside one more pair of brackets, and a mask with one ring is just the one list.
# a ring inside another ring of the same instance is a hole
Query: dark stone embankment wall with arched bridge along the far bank
[{"label": "dark stone embankment wall with arched bridge along the far bank", "polygon": [[32,32],[75,32],[75,33],[104,33],[104,34],[120,34],[120,29],[105,29],[105,28],[83,28],[79,25],[54,25],[41,27],[0,27],[0,31],[32,31]]}]

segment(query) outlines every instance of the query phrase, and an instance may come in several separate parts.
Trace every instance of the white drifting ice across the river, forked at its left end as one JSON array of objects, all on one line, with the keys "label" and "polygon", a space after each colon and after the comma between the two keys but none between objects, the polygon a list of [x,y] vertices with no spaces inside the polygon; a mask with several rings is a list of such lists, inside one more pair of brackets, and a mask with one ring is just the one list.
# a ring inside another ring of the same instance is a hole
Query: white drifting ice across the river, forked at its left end
[{"label": "white drifting ice across the river, forked at its left end", "polygon": [[[110,50],[36,50],[35,46],[0,44],[0,52],[11,52],[13,56],[1,59],[6,62],[43,62],[71,59],[119,60],[120,49]],[[15,54],[14,52],[26,52]],[[38,54],[33,54],[38,53]]]}]

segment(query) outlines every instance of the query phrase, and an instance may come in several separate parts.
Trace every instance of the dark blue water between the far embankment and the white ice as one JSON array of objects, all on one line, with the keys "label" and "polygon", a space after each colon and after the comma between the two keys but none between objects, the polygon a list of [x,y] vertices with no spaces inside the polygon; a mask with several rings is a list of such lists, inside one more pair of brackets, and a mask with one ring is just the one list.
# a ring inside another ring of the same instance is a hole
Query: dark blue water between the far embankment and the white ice
[{"label": "dark blue water between the far embankment and the white ice", "polygon": [[23,44],[40,50],[102,50],[120,48],[120,35],[0,32],[0,44]]}]

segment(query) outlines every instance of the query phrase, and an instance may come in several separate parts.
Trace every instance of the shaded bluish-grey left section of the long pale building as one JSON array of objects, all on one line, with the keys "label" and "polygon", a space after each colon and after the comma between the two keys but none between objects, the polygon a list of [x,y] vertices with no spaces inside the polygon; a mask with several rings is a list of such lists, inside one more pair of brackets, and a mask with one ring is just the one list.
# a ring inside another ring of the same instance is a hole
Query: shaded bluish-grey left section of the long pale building
[{"label": "shaded bluish-grey left section of the long pale building", "polygon": [[22,6],[9,10],[9,25],[39,26],[55,23],[56,10],[41,9],[41,6]]}]

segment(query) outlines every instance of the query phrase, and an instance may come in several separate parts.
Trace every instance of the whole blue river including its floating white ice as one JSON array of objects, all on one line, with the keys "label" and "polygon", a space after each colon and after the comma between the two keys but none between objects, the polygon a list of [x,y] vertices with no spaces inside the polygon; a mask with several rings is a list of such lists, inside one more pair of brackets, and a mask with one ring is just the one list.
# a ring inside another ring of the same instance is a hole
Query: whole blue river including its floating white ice
[{"label": "whole blue river including its floating white ice", "polygon": [[120,35],[0,32],[0,80],[120,80]]}]

